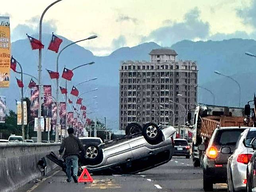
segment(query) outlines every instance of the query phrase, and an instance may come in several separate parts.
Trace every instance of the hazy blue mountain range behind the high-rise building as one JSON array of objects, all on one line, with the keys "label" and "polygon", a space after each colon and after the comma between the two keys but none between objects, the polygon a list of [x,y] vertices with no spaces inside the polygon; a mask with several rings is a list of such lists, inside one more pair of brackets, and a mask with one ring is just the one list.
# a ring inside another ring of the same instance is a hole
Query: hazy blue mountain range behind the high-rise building
[{"label": "hazy blue mountain range behind the high-rise building", "polygon": [[[61,37],[63,43],[60,49],[71,43],[68,39]],[[43,35],[43,84],[51,83],[53,89],[56,87],[56,81],[51,81],[45,68],[56,71],[57,54],[47,50],[51,35]],[[84,80],[98,77],[98,80],[84,83],[78,87],[80,92],[89,91],[96,87],[94,91],[83,95],[88,108],[95,108],[94,102],[98,103],[98,117],[107,117],[107,125],[118,128],[119,111],[119,66],[121,60],[149,60],[149,52],[153,48],[160,48],[156,43],[143,43],[135,47],[123,47],[115,50],[109,56],[94,56],[92,52],[78,45],[72,45],[62,52],[59,58],[59,72],[62,74],[64,66],[72,69],[78,65],[94,61],[91,66],[84,66],[74,70],[72,82],[74,85]],[[217,76],[214,70],[219,70],[241,83],[242,87],[242,105],[252,99],[256,82],[254,82],[253,72],[256,70],[255,58],[246,56],[244,52],[254,52],[256,50],[256,41],[244,39],[230,39],[224,41],[181,41],[171,48],[178,53],[178,59],[196,60],[198,62],[198,82],[200,85],[211,89],[216,96],[216,105],[238,106],[238,88],[231,80]],[[255,51],[256,52],[256,51]],[[23,71],[37,77],[38,50],[31,50],[27,39],[12,43],[12,55],[23,66]],[[250,74],[250,75],[249,75]],[[15,76],[19,74],[11,73],[11,86],[9,89],[3,89],[2,95],[8,97],[8,106],[15,108],[15,99],[19,98]],[[30,78],[24,80],[25,87]],[[72,82],[68,82],[69,91]],[[64,80],[60,81],[60,86],[64,86]],[[55,90],[54,90],[55,94]],[[27,92],[29,95],[29,91]],[[90,100],[97,95],[95,101]],[[203,89],[199,89],[199,102],[212,104],[211,95]],[[71,97],[72,99],[72,97]],[[74,99],[74,98],[73,98]],[[89,109],[88,111],[95,111]],[[91,117],[94,115],[91,114]]]}]

